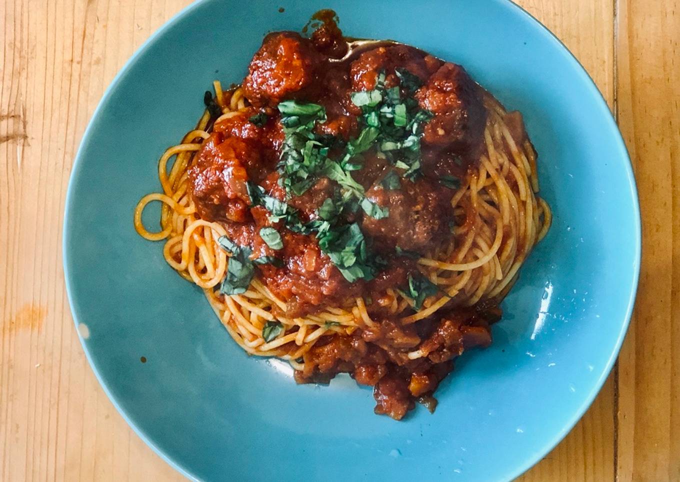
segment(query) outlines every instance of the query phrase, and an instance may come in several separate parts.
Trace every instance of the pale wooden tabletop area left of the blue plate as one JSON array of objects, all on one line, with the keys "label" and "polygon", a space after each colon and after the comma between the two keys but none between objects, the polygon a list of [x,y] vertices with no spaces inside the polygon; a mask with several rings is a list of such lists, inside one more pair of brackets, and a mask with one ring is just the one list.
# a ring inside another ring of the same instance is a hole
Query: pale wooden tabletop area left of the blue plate
[{"label": "pale wooden tabletop area left of the blue plate", "polygon": [[64,291],[71,162],[104,88],[188,0],[0,1],[0,480],[181,480],[88,366]]}]

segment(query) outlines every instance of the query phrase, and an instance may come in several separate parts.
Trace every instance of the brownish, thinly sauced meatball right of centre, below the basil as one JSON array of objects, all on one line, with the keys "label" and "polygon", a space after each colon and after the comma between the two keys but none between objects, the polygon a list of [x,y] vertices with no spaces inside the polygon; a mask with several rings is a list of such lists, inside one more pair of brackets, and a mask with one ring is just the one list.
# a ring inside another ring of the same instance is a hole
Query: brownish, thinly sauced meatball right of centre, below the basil
[{"label": "brownish, thinly sauced meatball right of centre, below the basil", "polygon": [[400,189],[386,189],[377,182],[366,197],[389,209],[386,218],[364,216],[362,228],[376,245],[398,246],[424,253],[448,229],[452,219],[452,191],[430,179],[416,182],[401,179]]}]

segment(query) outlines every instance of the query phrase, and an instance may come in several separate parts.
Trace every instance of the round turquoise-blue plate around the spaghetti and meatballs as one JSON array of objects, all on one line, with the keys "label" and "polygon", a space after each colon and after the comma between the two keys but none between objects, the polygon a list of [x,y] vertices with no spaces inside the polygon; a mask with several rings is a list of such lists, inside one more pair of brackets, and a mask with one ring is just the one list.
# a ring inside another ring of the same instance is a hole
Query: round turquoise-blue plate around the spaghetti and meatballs
[{"label": "round turquoise-blue plate around the spaghetti and meatballs", "polygon": [[[420,5],[199,2],[139,49],[92,117],[64,225],[73,317],[118,410],[189,477],[512,479],[571,429],[611,369],[638,281],[640,219],[605,101],[560,41],[509,1]],[[159,189],[158,157],[194,125],[211,82],[239,82],[263,35],[299,30],[324,7],[348,35],[462,63],[520,109],[554,209],[503,303],[494,345],[459,360],[434,415],[418,407],[401,423],[373,415],[371,389],[347,377],[296,385],[287,364],[246,356],[200,290],[165,263],[162,244],[133,229],[135,204]]]}]

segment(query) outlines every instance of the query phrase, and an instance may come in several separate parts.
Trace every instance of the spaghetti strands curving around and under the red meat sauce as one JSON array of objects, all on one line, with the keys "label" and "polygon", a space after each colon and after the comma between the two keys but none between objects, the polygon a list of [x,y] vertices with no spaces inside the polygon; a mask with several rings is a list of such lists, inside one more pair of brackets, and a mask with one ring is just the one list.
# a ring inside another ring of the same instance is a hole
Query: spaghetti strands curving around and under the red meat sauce
[{"label": "spaghetti strands curving around and under the red meat sauce", "polygon": [[[214,103],[219,110],[206,109],[197,126],[161,156],[158,179],[162,191],[139,201],[134,224],[144,239],[165,240],[163,254],[167,263],[203,288],[227,332],[249,354],[276,356],[288,360],[299,373],[311,373],[310,363],[316,365],[314,369],[319,367],[318,360],[310,355],[313,348],[317,344],[328,345],[329,339],[351,339],[363,332],[379,330],[386,319],[393,320],[400,330],[407,330],[423,323],[431,325],[432,320],[445,316],[440,313],[452,309],[495,306],[507,294],[526,256],[550,226],[550,209],[537,196],[534,148],[522,130],[509,122],[516,120],[513,114],[483,92],[486,122],[479,158],[467,167],[460,185],[450,191],[452,233],[413,261],[420,276],[437,288],[436,292],[430,290],[422,303],[403,286],[390,286],[379,296],[359,293],[337,304],[322,304],[318,309],[291,315],[288,300],[277,295],[257,273],[245,291],[222,294],[218,288],[232,254],[218,240],[227,237],[228,231],[224,220],[205,220],[199,215],[189,171],[196,163],[197,152],[211,137],[213,126],[251,112],[252,103],[241,86],[222,90],[220,82],[215,82],[214,91]],[[150,232],[142,223],[143,210],[152,201],[163,203],[158,232]],[[275,336],[272,330],[267,330],[268,326],[275,326]],[[430,356],[432,350],[425,346],[425,338],[421,337],[421,343],[415,346],[400,349],[400,356],[407,358],[405,363]],[[384,344],[384,339],[377,342],[381,343]],[[334,371],[345,371],[342,363]],[[413,377],[420,375],[415,370],[409,376],[411,387]],[[411,390],[411,396],[428,395],[433,390],[415,393]],[[403,416],[399,410],[384,409],[381,413],[395,418]]]}]

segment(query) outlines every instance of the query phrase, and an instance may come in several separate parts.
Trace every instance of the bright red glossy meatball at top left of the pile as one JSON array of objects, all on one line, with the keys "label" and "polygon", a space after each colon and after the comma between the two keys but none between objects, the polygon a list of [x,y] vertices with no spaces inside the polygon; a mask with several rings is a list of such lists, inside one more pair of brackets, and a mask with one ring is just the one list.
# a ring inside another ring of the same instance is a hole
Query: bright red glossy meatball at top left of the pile
[{"label": "bright red glossy meatball at top left of the pile", "polygon": [[297,33],[267,35],[243,81],[246,99],[255,107],[275,107],[314,83],[321,60],[311,42]]}]

